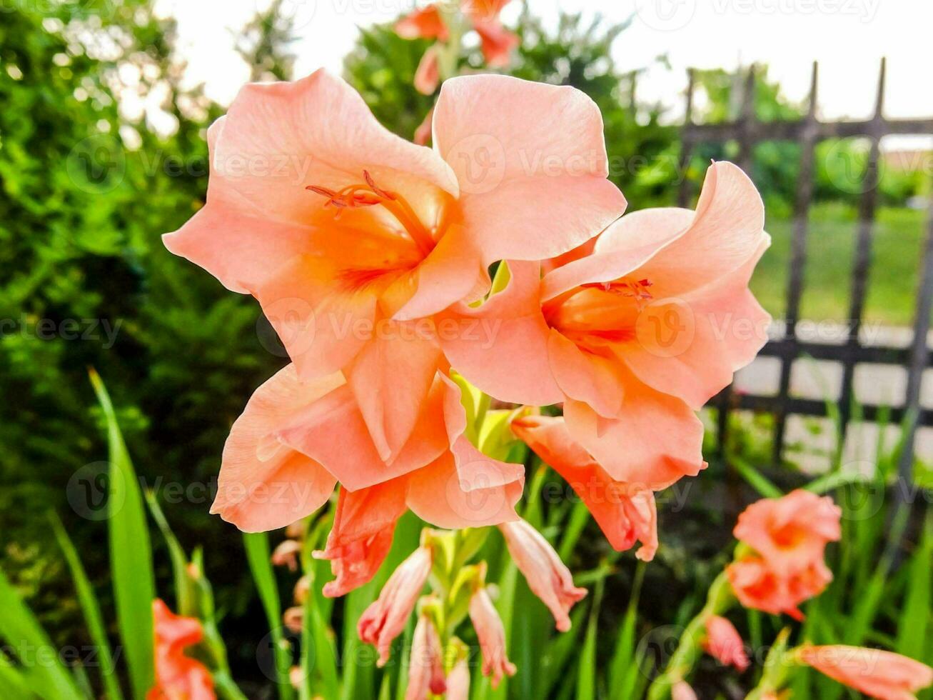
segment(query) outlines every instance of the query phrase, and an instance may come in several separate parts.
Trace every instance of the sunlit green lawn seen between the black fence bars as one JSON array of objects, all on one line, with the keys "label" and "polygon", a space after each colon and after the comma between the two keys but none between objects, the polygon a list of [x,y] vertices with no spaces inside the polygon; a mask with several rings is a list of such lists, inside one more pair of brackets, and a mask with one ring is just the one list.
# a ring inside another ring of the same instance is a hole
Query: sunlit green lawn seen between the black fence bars
[{"label": "sunlit green lawn seen between the black fence bars", "polygon": [[[769,217],[773,245],[752,279],[752,290],[775,318],[787,306],[787,274],[793,222]],[[913,309],[926,228],[926,212],[882,207],[878,210],[872,245],[869,295],[865,320],[906,326]],[[810,210],[807,261],[801,316],[816,321],[848,317],[852,262],[856,245],[856,207],[819,203]]]}]

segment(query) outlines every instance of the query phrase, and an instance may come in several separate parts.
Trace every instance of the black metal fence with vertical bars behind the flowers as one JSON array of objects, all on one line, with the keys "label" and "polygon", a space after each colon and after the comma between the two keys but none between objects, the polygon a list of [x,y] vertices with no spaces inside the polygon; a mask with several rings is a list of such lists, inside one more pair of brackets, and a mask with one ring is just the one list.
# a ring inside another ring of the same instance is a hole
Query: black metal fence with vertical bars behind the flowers
[{"label": "black metal fence with vertical bars behind the flowers", "polygon": [[[827,405],[824,401],[795,398],[790,395],[791,367],[795,359],[804,356],[835,360],[842,364],[842,391],[839,397],[842,433],[838,438],[842,444],[846,427],[852,419],[853,380],[856,364],[897,364],[907,370],[905,400],[901,406],[885,409],[885,411],[889,413],[892,421],[902,422],[906,426],[907,432],[904,436],[904,448],[899,457],[898,471],[902,477],[909,479],[916,427],[918,425],[933,426],[933,411],[924,410],[920,405],[923,373],[933,360],[926,343],[931,305],[933,305],[933,201],[929,208],[926,241],[919,259],[920,281],[916,294],[915,320],[910,346],[904,348],[864,345],[859,339],[859,330],[862,326],[870,273],[872,233],[879,184],[879,143],[887,135],[933,134],[933,119],[885,119],[885,65],[886,63],[882,60],[873,116],[861,121],[832,122],[820,121],[816,118],[818,77],[816,63],[813,65],[806,116],[802,119],[787,121],[763,122],[756,119],[754,110],[756,72],[753,67],[748,70],[743,81],[744,89],[737,119],[727,123],[694,124],[692,112],[696,81],[695,73],[690,71],[679,172],[687,172],[693,150],[701,144],[735,143],[738,147],[736,161],[748,173],[752,173],[749,167],[752,149],[759,143],[791,141],[801,145],[787,278],[786,329],[783,338],[770,341],[762,350],[762,355],[777,357],[780,360],[778,391],[775,396],[761,396],[735,392],[732,387],[728,387],[713,399],[712,403],[719,409],[717,419],[719,444],[726,444],[731,410],[745,409],[772,413],[774,416],[773,459],[775,463],[779,463],[784,452],[787,416],[791,414],[827,415]],[[858,206],[855,259],[849,298],[850,332],[845,342],[841,344],[804,342],[798,337],[798,323],[803,291],[804,261],[807,257],[808,215],[814,195],[815,147],[821,141],[850,137],[864,137],[870,142],[867,166],[858,183],[861,198]],[[692,184],[686,177],[683,178],[677,197],[680,206],[687,205],[692,195],[691,190]],[[879,405],[867,404],[861,407],[861,414],[865,420],[873,420],[882,410]]]}]

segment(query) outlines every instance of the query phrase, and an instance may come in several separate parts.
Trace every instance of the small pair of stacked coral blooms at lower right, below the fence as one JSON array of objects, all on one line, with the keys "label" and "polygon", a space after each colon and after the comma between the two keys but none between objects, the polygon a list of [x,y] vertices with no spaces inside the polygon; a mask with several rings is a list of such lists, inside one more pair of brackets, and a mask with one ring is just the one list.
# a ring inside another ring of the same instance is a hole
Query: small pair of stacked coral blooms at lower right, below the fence
[{"label": "small pair of stacked coral blooms at lower right, below the fence", "polygon": [[831,498],[802,490],[745,509],[734,530],[744,551],[726,569],[739,602],[802,620],[801,602],[832,581],[823,552],[841,536],[841,515]]}]

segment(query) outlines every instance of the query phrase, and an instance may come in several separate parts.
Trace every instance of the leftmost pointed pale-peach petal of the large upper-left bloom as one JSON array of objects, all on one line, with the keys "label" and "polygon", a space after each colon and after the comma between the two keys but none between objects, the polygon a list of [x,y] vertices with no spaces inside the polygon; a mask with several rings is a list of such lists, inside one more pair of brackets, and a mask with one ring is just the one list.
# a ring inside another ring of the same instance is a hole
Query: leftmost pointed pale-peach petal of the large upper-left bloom
[{"label": "leftmost pointed pale-peach petal of the large upper-left bloom", "polygon": [[[208,152],[227,118],[207,130]],[[311,229],[302,223],[268,217],[245,200],[221,175],[212,173],[207,203],[162,242],[177,256],[201,265],[231,291],[249,293],[272,271],[309,250]]]}]

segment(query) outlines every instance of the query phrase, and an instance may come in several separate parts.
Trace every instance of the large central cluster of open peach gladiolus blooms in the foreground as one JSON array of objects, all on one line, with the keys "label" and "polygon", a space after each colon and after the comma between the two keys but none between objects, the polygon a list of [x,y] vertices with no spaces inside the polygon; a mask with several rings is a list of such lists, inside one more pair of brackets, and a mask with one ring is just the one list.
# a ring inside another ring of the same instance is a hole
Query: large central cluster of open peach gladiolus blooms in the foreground
[{"label": "large central cluster of open peach gladiolus blooms in the foreground", "polygon": [[452,78],[433,133],[388,133],[323,71],[247,85],[209,130],[207,202],[165,245],[255,296],[292,360],[233,425],[212,511],[268,530],[340,484],[326,595],[369,581],[406,509],[515,521],[524,469],[477,448],[478,387],[529,406],[514,433],[650,559],[654,492],[705,466],[694,411],[765,340],[758,192],[719,162],[695,212],[620,218],[601,116],[569,87]]}]

